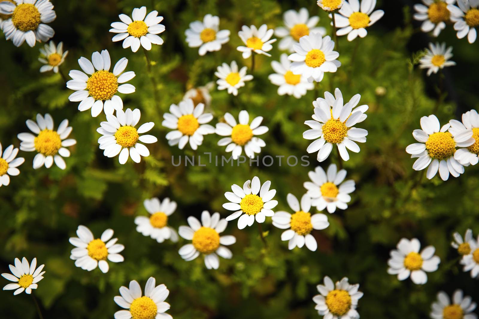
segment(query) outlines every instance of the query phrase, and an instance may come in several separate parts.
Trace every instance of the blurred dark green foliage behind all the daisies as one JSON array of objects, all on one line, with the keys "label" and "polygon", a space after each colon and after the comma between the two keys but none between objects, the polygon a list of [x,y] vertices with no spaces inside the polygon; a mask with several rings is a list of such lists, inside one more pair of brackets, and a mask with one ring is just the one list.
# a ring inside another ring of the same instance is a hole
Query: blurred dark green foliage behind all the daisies
[{"label": "blurred dark green foliage behind all the daisies", "polygon": [[[419,1],[417,1],[419,2]],[[318,318],[311,298],[317,294],[316,285],[324,275],[333,280],[348,276],[360,283],[365,293],[359,302],[361,318],[410,319],[427,318],[430,304],[438,290],[451,294],[456,288],[479,301],[476,281],[463,273],[458,256],[450,247],[452,233],[464,233],[472,228],[479,231],[478,167],[468,167],[463,176],[443,182],[438,176],[429,181],[422,173],[412,170],[413,159],[405,147],[414,143],[412,130],[419,128],[421,116],[435,113],[441,123],[459,119],[472,108],[479,108],[477,96],[478,43],[457,40],[451,25],[440,35],[440,41],[454,46],[457,66],[445,72],[447,94],[438,99],[437,76],[425,77],[425,71],[413,66],[413,55],[431,40],[411,21],[412,2],[378,1],[378,9],[386,11],[382,20],[369,28],[365,39],[353,43],[341,37],[339,41],[342,67],[335,74],[326,74],[320,83],[323,91],[341,88],[345,99],[360,93],[361,103],[368,104],[368,118],[360,127],[369,131],[367,142],[359,154],[351,154],[344,163],[348,178],[356,181],[356,191],[349,209],[328,214],[331,226],[314,231],[319,248],[287,250],[281,242],[282,230],[276,229],[268,218],[263,224],[268,231],[264,248],[257,224],[239,231],[236,220],[225,233],[237,237],[231,246],[233,259],[220,260],[220,269],[208,271],[203,258],[184,262],[178,249],[185,243],[169,241],[162,244],[142,236],[135,230],[133,220],[146,215],[143,200],[151,197],[170,197],[178,203],[170,223],[177,228],[186,224],[190,215],[199,217],[203,209],[219,211],[228,216],[221,205],[224,192],[232,184],[240,184],[257,175],[262,181],[271,180],[277,189],[277,210],[289,210],[286,194],[298,198],[305,192],[302,184],[307,173],[319,165],[315,154],[309,167],[289,167],[277,162],[270,167],[240,165],[239,167],[206,167],[171,165],[171,155],[194,155],[189,146],[184,151],[170,147],[161,126],[162,115],[171,103],[178,103],[187,88],[205,85],[215,80],[213,73],[221,62],[236,60],[240,66],[250,65],[242,59],[236,46],[243,24],[270,28],[282,25],[282,13],[288,9],[307,7],[310,14],[319,14],[320,25],[328,28],[327,18],[313,0],[82,0],[53,1],[57,20],[51,23],[56,42],[63,41],[69,50],[62,72],[78,69],[80,56],[91,57],[94,51],[108,49],[112,63],[123,56],[129,59],[127,70],[137,76],[130,81],[137,91],[124,95],[125,108],[141,110],[141,122],[156,123],[152,134],[159,142],[148,145],[151,156],[140,164],[119,165],[117,158],[108,159],[98,149],[100,136],[95,130],[104,120],[102,113],[91,118],[89,111],[79,112],[78,102],[69,102],[71,90],[65,81],[53,73],[40,74],[37,62],[40,44],[34,48],[23,44],[16,48],[0,40],[0,141],[4,147],[20,141],[17,133],[27,132],[25,121],[36,113],[52,114],[56,127],[64,118],[73,126],[72,138],[78,143],[71,147],[66,159],[67,169],[55,165],[50,169],[32,168],[34,153],[21,152],[26,162],[20,166],[20,176],[11,178],[11,185],[0,188],[0,272],[8,272],[15,257],[37,257],[46,264],[45,279],[34,291],[41,303],[45,318],[113,318],[120,308],[113,297],[118,288],[136,279],[144,287],[149,276],[164,283],[171,291],[166,300],[168,311],[175,319],[206,318]],[[164,16],[166,31],[162,46],[154,45],[150,57],[160,96],[153,99],[152,84],[146,61],[140,50],[136,54],[112,43],[110,23],[119,21],[118,14],[131,14],[135,7],[152,6]],[[220,52],[201,57],[197,49],[188,48],[184,31],[189,22],[202,20],[206,13],[219,15],[221,29],[231,30],[231,40]],[[357,45],[357,47],[356,47]],[[355,51],[356,50],[356,51]],[[354,54],[354,52],[356,52]],[[235,117],[246,109],[251,116],[262,115],[270,131],[264,135],[265,155],[307,154],[310,141],[302,138],[308,129],[303,124],[312,114],[313,91],[302,99],[280,97],[277,87],[267,76],[273,73],[270,62],[279,59],[277,43],[273,57],[259,56],[254,80],[233,97],[226,91],[212,92],[213,123],[228,111]],[[353,57],[354,55],[354,57]],[[376,94],[384,87],[386,94]],[[443,101],[443,98],[444,101]],[[212,152],[226,155],[224,147],[216,145],[220,137],[207,135],[197,154]],[[332,155],[335,155],[334,153]],[[322,167],[332,161],[331,156]],[[327,214],[327,212],[326,212]],[[96,236],[113,228],[115,237],[125,244],[125,262],[110,263],[110,271],[99,269],[86,272],[69,259],[79,224],[91,228]],[[429,274],[424,286],[410,280],[399,282],[386,273],[389,250],[400,238],[417,237],[422,245],[433,244],[441,257],[439,270]],[[1,285],[6,285],[3,278]],[[2,291],[2,318],[37,318],[34,303],[26,294],[12,296]]]}]

